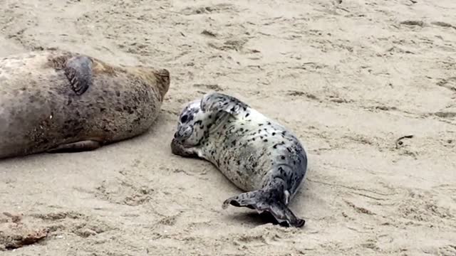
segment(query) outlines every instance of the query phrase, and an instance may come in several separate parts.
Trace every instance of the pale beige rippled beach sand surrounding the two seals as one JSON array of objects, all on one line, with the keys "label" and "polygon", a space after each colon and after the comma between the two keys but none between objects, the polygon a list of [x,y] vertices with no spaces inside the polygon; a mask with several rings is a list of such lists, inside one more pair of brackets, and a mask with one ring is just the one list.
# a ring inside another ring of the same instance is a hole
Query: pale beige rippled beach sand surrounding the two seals
[{"label": "pale beige rippled beach sand surrounding the two seals", "polygon": [[[33,244],[0,255],[456,255],[455,0],[0,6],[0,55],[57,47],[172,73],[144,136],[1,161],[0,240]],[[222,210],[240,191],[171,154],[182,105],[212,90],[305,144],[304,228]]]}]

